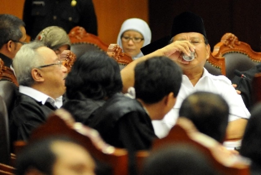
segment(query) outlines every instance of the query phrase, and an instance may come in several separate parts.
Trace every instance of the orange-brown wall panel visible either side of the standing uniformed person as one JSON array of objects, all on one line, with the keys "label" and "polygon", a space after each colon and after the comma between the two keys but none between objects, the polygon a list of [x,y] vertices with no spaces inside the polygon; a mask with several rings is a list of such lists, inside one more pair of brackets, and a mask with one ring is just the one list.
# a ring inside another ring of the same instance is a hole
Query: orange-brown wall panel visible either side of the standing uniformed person
[{"label": "orange-brown wall panel visible either side of the standing uniformed person", "polygon": [[[0,0],[0,13],[22,19],[25,0]],[[116,43],[119,29],[128,18],[148,22],[148,0],[93,0],[98,21],[98,36],[107,44]],[[15,5],[14,5],[15,4]]]}]

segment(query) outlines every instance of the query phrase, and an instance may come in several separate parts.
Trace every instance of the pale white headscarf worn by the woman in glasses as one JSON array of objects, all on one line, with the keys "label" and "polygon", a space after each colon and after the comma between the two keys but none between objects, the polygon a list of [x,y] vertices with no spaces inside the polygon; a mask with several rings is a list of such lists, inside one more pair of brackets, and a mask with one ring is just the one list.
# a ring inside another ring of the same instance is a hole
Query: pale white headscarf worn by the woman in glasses
[{"label": "pale white headscarf worn by the woman in glasses", "polygon": [[[142,34],[142,36],[144,38],[144,43],[143,43],[142,47],[148,45],[151,42],[151,31],[150,31],[148,24],[142,19],[131,18],[131,19],[125,20],[121,25],[119,35],[117,38],[117,44],[121,48],[122,48],[121,35],[125,31],[128,31],[128,30],[138,31]],[[124,52],[124,50],[123,50],[123,52]],[[142,54],[142,52],[140,52],[132,59],[134,60],[134,59],[140,58],[142,56],[143,56],[143,54]]]}]

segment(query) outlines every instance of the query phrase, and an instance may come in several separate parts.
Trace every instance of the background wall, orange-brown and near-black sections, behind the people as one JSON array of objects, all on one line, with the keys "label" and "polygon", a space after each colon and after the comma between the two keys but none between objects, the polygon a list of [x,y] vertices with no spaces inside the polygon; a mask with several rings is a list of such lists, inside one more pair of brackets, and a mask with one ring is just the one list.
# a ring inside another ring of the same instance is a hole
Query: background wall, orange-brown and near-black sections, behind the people
[{"label": "background wall, orange-brown and near-black sections, behind the people", "polygon": [[[24,0],[0,0],[0,13],[21,18],[23,3]],[[261,3],[257,0],[93,0],[93,3],[98,35],[107,44],[116,43],[120,26],[128,18],[147,21],[154,41],[169,34],[175,15],[190,10],[202,16],[211,50],[225,33],[231,32],[260,52]]]}]

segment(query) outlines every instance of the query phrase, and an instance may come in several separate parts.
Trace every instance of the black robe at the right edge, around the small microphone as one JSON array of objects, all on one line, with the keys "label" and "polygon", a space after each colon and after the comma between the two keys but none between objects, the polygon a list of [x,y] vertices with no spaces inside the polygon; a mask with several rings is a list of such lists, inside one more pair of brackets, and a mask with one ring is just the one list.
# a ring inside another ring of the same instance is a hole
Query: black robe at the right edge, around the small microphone
[{"label": "black robe at the right edge, around the small microphone", "polygon": [[[253,80],[253,77],[256,73],[261,72],[261,63],[256,65],[255,67],[249,69],[248,71],[242,72],[248,79]],[[235,76],[232,79],[232,84],[236,84],[237,90],[241,91],[242,99],[249,111],[253,108],[253,101],[252,101],[252,81],[249,81],[245,78],[241,78]]]}]

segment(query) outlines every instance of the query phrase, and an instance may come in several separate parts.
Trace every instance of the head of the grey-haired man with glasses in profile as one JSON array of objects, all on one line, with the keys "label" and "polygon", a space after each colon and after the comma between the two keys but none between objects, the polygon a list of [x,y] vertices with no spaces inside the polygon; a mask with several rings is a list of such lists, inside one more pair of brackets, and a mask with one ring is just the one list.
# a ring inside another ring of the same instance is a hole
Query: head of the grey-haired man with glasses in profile
[{"label": "head of the grey-haired man with glasses in profile", "polygon": [[23,45],[13,67],[19,85],[28,86],[56,99],[65,93],[67,69],[50,48],[40,42]]}]

